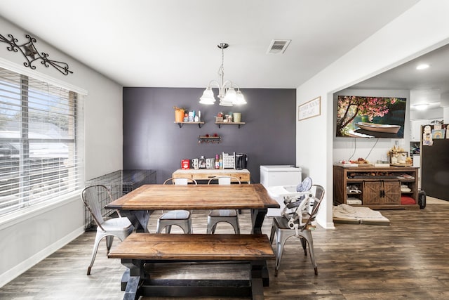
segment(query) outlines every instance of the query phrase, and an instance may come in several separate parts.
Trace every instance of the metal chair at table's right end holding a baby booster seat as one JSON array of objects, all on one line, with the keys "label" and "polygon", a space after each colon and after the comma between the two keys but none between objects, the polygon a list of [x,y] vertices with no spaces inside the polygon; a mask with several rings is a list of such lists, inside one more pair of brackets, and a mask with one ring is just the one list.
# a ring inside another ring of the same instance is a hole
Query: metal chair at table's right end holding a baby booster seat
[{"label": "metal chair at table's right end holding a baby booster seat", "polygon": [[[314,195],[312,195],[313,190],[315,190]],[[304,255],[306,256],[306,246],[309,246],[311,263],[314,266],[315,275],[318,275],[318,266],[316,266],[314,255],[314,240],[312,239],[311,231],[315,229],[312,222],[315,221],[323,197],[324,188],[321,185],[312,185],[311,193],[300,202],[293,214],[274,216],[269,242],[272,243],[274,240],[274,235],[276,235],[275,276],[278,275],[279,265],[281,264],[283,254],[283,247],[286,244],[286,241],[293,236],[300,238],[302,249],[304,249]]]}]

